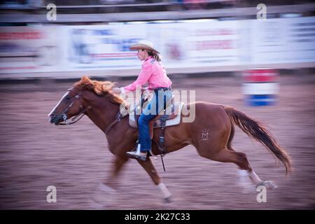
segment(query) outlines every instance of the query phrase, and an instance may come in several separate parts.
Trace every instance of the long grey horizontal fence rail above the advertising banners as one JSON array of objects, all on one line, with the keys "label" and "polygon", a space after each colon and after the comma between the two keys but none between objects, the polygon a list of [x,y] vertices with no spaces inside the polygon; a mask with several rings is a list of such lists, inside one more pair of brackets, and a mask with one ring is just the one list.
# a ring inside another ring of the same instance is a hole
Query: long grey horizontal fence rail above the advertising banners
[{"label": "long grey horizontal fence rail above the advertising banners", "polygon": [[[307,3],[290,6],[268,6],[267,14],[281,13],[314,13],[315,3]],[[46,19],[48,10],[41,10],[38,14],[2,13],[0,22],[4,23],[51,23]],[[246,8],[221,8],[214,10],[184,10],[164,12],[141,12],[141,13],[86,13],[86,14],[64,14],[58,13],[55,23],[71,22],[127,22],[127,21],[150,21],[150,20],[185,20],[202,18],[246,18],[255,16],[258,12],[255,7]]]}]

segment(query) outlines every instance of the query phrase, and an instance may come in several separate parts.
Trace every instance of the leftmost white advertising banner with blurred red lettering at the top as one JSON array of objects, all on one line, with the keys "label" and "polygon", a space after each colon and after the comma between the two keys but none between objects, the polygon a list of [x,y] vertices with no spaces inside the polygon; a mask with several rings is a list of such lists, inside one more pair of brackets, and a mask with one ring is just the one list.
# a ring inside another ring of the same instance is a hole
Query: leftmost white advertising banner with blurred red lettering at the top
[{"label": "leftmost white advertising banner with blurred red lettering at the top", "polygon": [[1,27],[0,72],[54,71],[59,44],[56,27]]}]

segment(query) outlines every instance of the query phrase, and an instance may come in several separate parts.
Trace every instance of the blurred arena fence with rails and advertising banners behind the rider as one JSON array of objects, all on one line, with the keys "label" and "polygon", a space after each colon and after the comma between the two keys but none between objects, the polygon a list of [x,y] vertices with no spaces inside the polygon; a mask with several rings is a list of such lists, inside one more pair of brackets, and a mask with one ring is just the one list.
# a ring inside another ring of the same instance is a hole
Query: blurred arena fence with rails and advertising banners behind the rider
[{"label": "blurred arena fence with rails and advertising banners behind the rider", "polygon": [[141,39],[174,74],[312,68],[315,4],[298,3],[265,1],[258,20],[255,1],[4,1],[0,78],[135,76]]}]

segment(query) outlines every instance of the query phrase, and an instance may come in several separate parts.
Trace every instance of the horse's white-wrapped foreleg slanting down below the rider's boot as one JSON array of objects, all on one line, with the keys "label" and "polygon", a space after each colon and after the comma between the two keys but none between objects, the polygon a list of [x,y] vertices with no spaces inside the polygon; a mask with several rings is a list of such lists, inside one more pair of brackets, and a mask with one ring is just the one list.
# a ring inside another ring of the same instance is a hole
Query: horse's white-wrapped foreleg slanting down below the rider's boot
[{"label": "horse's white-wrapped foreleg slanting down below the rider's boot", "polygon": [[156,171],[155,167],[153,166],[153,163],[151,162],[151,159],[147,158],[146,161],[138,160],[138,162],[142,167],[144,167],[149,176],[151,176],[152,181],[160,189],[163,200],[165,200],[165,202],[172,202],[171,199],[172,194],[169,193],[169,190],[167,190],[165,184],[162,183],[160,176],[158,175],[158,172]]}]

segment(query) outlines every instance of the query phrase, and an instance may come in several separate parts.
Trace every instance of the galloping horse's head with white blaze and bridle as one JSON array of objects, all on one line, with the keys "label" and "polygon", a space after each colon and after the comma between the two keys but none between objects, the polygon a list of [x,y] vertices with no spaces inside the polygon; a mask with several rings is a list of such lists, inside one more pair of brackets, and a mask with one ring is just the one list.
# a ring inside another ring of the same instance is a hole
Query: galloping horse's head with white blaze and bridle
[{"label": "galloping horse's head with white blaze and bridle", "polygon": [[87,111],[87,106],[84,105],[82,92],[78,87],[69,89],[48,114],[50,123],[55,125],[69,124],[71,123],[70,118],[84,114]]}]

